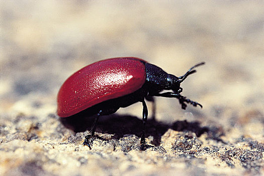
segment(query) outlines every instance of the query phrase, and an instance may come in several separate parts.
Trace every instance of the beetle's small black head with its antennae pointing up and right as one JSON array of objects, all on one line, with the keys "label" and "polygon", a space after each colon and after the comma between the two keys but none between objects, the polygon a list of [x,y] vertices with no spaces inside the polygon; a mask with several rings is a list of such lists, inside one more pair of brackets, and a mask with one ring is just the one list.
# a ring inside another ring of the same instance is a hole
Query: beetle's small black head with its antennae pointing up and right
[{"label": "beetle's small black head with its antennae pointing up and right", "polygon": [[198,67],[200,65],[205,64],[205,62],[201,62],[190,68],[183,76],[177,77],[173,74],[167,75],[167,89],[172,90],[174,93],[180,94],[183,92],[183,88],[180,86],[181,83],[189,76],[190,74],[193,74],[196,72],[196,70],[193,70],[195,67]]}]

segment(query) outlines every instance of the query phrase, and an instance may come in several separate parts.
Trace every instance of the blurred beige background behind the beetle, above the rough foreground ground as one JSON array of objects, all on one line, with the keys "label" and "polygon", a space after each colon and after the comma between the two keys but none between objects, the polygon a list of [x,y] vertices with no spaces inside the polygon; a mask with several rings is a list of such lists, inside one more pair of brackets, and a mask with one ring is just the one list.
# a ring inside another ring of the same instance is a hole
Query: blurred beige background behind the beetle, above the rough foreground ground
[{"label": "blurred beige background behind the beetle, above the rough foreground ground", "polygon": [[[0,1],[0,116],[56,112],[64,80],[93,62],[134,56],[176,76],[201,103],[157,98],[156,120],[199,121],[264,142],[263,1]],[[152,106],[148,103],[150,117]],[[117,113],[141,118],[141,104]],[[228,134],[227,134],[228,133]]]}]

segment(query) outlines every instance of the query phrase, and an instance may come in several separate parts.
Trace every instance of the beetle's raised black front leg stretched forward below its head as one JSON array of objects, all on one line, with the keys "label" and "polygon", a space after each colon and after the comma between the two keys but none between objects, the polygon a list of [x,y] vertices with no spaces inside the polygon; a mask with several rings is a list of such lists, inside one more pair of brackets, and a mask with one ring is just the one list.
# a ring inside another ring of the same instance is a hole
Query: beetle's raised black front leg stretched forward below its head
[{"label": "beetle's raised black front leg stretched forward below its head", "polygon": [[167,98],[177,98],[177,99],[179,99],[179,102],[182,105],[182,109],[184,109],[184,110],[187,107],[187,105],[185,104],[185,102],[186,103],[190,103],[193,106],[199,105],[201,108],[203,108],[203,106],[200,103],[194,102],[194,101],[192,101],[190,99],[186,99],[186,97],[184,97],[184,96],[182,96],[180,94],[177,94],[177,93],[166,92],[166,93],[161,93],[161,94],[155,94],[155,96],[158,96],[158,97],[167,97]]}]

